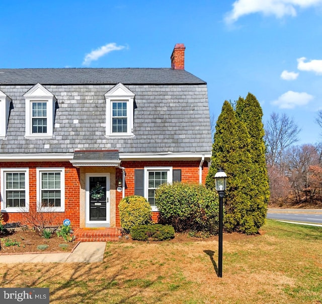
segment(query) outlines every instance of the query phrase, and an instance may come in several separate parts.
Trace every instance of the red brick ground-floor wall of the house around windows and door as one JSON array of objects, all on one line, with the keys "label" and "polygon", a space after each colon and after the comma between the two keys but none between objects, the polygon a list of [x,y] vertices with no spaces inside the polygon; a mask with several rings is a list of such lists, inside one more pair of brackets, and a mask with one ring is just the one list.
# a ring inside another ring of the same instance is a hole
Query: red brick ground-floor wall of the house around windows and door
[{"label": "red brick ground-floor wall of the house around windows and door", "polygon": [[[131,161],[122,162],[125,167],[125,196],[134,195],[134,170],[144,169],[144,167],[173,167],[181,169],[182,182],[199,183],[199,164],[200,161]],[[79,227],[79,169],[73,167],[69,162],[10,162],[0,163],[1,168],[29,168],[29,208],[36,210],[37,189],[36,189],[36,168],[65,168],[65,212],[55,212],[57,214],[57,223],[61,224],[64,218],[71,220],[73,227]],[[207,163],[202,168],[202,183],[208,173]],[[122,170],[116,169],[115,189],[118,187],[118,181],[122,180]],[[111,185],[113,189],[113,185]],[[120,215],[118,203],[122,199],[122,192],[116,191],[116,226],[120,226]],[[5,222],[24,222],[21,213],[3,213]],[[158,212],[153,212],[153,221],[158,220]]]}]

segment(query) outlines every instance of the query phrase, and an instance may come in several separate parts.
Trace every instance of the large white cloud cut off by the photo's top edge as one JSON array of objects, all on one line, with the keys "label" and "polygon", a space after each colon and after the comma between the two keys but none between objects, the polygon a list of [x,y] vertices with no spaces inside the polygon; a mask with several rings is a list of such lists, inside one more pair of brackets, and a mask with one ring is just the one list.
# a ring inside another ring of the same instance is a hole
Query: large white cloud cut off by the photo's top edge
[{"label": "large white cloud cut off by the photo's top edge", "polygon": [[240,17],[261,13],[264,16],[273,15],[277,18],[296,16],[296,8],[308,8],[322,4],[322,0],[237,0],[233,9],[226,17],[226,23],[234,23]]}]

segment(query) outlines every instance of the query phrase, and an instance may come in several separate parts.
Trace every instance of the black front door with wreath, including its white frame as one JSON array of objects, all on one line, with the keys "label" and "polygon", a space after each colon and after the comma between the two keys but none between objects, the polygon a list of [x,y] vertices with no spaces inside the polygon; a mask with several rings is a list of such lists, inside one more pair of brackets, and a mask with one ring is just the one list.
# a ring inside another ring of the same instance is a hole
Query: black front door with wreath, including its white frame
[{"label": "black front door with wreath, including its white frame", "polygon": [[86,225],[108,226],[110,223],[110,174],[86,174]]}]

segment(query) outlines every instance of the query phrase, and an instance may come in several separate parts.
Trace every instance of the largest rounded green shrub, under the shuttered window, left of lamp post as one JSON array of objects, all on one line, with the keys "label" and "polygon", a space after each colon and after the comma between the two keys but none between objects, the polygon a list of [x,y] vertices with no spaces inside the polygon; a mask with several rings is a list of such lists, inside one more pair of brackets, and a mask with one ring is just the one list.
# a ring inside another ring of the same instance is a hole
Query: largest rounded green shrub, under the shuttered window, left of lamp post
[{"label": "largest rounded green shrub, under the shuttered window, left of lamp post", "polygon": [[160,223],[172,225],[176,232],[218,233],[218,195],[203,185],[163,184],[155,191],[155,204]]}]

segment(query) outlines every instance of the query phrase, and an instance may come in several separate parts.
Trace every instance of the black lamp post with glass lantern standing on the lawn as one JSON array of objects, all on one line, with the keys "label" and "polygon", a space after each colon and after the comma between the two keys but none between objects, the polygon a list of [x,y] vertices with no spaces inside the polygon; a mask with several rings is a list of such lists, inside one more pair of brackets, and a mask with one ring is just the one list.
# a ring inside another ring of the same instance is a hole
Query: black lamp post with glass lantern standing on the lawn
[{"label": "black lamp post with glass lantern standing on the lawn", "polygon": [[215,174],[216,191],[219,194],[219,242],[218,242],[218,277],[222,277],[222,217],[223,217],[223,197],[226,190],[227,175],[222,169]]}]

